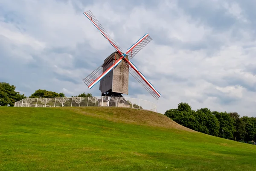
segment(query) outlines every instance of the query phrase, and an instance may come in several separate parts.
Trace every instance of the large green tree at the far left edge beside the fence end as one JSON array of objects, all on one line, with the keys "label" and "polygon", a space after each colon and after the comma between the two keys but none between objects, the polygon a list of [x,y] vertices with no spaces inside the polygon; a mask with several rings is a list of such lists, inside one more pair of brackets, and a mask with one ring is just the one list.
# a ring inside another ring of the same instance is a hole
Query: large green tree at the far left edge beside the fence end
[{"label": "large green tree at the far left edge beside the fence end", "polygon": [[6,82],[0,82],[0,106],[14,106],[15,101],[26,99],[24,94],[15,91],[16,87]]}]

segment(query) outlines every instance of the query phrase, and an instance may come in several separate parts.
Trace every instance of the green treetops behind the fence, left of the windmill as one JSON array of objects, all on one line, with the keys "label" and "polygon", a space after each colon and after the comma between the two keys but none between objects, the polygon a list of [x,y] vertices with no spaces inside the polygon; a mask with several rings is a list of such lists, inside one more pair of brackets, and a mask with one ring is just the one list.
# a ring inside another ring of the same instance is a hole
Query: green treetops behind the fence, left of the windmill
[{"label": "green treetops behind the fence, left of the windmill", "polygon": [[[26,99],[27,97],[20,92],[15,91],[16,87],[6,82],[0,82],[0,106],[14,106],[15,101]],[[36,90],[35,93],[31,94],[28,98],[56,98],[66,97],[64,93],[56,93],[47,90]],[[81,93],[77,96],[71,97],[92,97],[90,93]]]}]

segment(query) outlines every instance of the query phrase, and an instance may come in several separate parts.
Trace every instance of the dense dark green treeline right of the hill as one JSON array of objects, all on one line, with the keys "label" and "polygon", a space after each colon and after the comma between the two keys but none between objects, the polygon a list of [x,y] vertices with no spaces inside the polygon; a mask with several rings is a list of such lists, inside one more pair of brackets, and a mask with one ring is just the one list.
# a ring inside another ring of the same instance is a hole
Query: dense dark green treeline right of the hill
[{"label": "dense dark green treeline right of the hill", "polygon": [[192,110],[187,103],[179,103],[177,109],[166,110],[164,115],[201,133],[246,143],[256,141],[255,117],[240,117],[236,112],[217,112],[208,108]]}]

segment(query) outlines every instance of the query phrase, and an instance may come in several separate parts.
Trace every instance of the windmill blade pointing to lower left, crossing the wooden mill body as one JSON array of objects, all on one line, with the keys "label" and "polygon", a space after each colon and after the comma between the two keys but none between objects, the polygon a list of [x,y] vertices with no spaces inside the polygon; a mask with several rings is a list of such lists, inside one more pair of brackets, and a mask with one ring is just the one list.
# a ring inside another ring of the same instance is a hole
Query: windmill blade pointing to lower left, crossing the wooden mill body
[{"label": "windmill blade pointing to lower left, crossing the wooden mill body", "polygon": [[[116,67],[124,56],[119,59],[110,58],[100,65],[96,70],[90,73],[87,77],[83,79],[84,83],[91,89],[95,84],[97,84],[105,75],[108,74],[114,67]],[[105,69],[107,68],[107,69]]]}]

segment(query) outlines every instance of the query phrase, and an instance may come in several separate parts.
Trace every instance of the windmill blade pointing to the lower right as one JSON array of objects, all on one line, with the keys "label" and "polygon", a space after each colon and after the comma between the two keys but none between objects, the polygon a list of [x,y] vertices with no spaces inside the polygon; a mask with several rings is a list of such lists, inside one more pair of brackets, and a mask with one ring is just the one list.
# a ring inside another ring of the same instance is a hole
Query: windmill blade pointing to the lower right
[{"label": "windmill blade pointing to the lower right", "polygon": [[138,70],[137,67],[131,62],[124,58],[125,61],[131,66],[132,69],[129,70],[129,73],[144,87],[148,93],[150,93],[155,99],[161,96],[161,94],[155,89],[155,87],[148,81],[147,78]]}]

